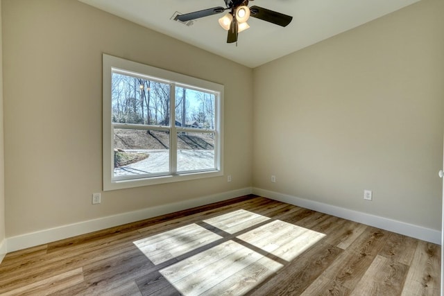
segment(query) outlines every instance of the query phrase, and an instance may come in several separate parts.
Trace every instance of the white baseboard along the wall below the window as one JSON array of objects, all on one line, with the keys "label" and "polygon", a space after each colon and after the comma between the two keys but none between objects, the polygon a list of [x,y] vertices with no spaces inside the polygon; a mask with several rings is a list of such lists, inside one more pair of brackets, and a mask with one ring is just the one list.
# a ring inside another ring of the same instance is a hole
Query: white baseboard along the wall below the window
[{"label": "white baseboard along the wall below the window", "polygon": [[192,200],[184,200],[182,202],[174,202],[157,207],[150,207],[137,211],[130,211],[123,214],[82,221],[79,223],[64,225],[60,227],[54,227],[51,229],[44,229],[29,234],[12,236],[10,238],[6,238],[5,245],[7,246],[7,248],[5,248],[7,249],[7,252],[14,252],[17,250],[25,249],[26,247],[34,247],[36,245],[51,243],[53,241],[59,241],[64,238],[78,236],[80,234],[87,234],[89,232],[95,232],[101,229],[119,226],[126,223],[133,223],[139,220],[173,213],[175,211],[182,211],[184,209],[199,207],[205,204],[210,204],[212,202],[220,202],[223,200],[229,200],[230,198],[237,198],[239,196],[248,195],[250,193],[251,188],[248,187],[245,189],[216,193]]}]

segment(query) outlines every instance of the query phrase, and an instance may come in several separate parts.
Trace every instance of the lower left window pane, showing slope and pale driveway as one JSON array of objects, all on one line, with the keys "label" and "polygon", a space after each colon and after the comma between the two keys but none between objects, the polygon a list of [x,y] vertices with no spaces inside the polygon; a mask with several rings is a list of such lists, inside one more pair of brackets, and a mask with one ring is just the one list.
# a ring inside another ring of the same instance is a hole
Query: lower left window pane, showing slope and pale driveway
[{"label": "lower left window pane, showing slope and pale driveway", "polygon": [[114,177],[169,173],[169,133],[114,128]]}]

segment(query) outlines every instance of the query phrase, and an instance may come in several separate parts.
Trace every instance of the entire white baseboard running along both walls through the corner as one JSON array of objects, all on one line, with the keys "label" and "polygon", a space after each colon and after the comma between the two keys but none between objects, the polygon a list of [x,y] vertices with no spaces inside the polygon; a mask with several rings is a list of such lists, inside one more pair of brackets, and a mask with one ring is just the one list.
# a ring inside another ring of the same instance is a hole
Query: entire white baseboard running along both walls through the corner
[{"label": "entire white baseboard running along both walls through the corner", "polygon": [[344,209],[341,207],[335,207],[330,204],[323,204],[321,202],[314,202],[312,200],[305,200],[302,198],[296,198],[295,196],[268,191],[259,188],[244,188],[234,191],[228,191],[224,193],[216,193],[213,195],[204,196],[201,198],[195,198],[192,200],[185,200],[183,202],[175,202],[171,204],[164,204],[157,207],[150,207],[137,211],[131,211],[123,214],[117,214],[114,216],[107,216],[103,218],[97,218],[94,220],[82,221],[70,225],[63,225],[60,227],[54,227],[51,229],[43,229],[38,232],[32,232],[29,234],[22,234],[19,236],[12,236],[4,239],[0,243],[0,263],[4,255],[7,252],[14,252],[17,250],[25,249],[26,247],[34,247],[36,245],[42,245],[45,243],[51,243],[60,239],[69,238],[72,236],[78,236],[80,234],[87,234],[89,232],[95,232],[97,230],[106,229],[114,226],[123,225],[126,223],[132,223],[147,218],[153,218],[164,214],[173,213],[175,211],[182,211],[184,209],[191,209],[193,207],[199,207],[212,202],[220,202],[223,200],[229,200],[230,198],[237,198],[239,196],[256,194],[263,196],[264,198],[271,198],[281,202],[287,202],[289,204],[297,205],[298,207],[304,207],[306,209],[312,209],[314,211],[320,211],[325,214],[330,214],[339,218],[344,218],[373,227],[386,229],[398,234],[404,234],[413,238],[418,238],[423,241],[429,241],[431,243],[441,244],[441,232],[434,229],[428,229],[417,225],[411,225],[409,223],[403,223],[388,218],[374,216],[359,211],[353,211],[350,209]]}]

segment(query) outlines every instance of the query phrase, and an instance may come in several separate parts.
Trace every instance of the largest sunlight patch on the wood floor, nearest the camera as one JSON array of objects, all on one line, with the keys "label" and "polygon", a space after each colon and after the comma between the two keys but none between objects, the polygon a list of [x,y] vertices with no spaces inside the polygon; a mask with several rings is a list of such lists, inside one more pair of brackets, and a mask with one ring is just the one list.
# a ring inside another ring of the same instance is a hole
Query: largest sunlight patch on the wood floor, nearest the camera
[{"label": "largest sunlight patch on the wood floor, nearest the camera", "polygon": [[183,295],[240,295],[282,266],[244,245],[226,241],[160,273]]}]

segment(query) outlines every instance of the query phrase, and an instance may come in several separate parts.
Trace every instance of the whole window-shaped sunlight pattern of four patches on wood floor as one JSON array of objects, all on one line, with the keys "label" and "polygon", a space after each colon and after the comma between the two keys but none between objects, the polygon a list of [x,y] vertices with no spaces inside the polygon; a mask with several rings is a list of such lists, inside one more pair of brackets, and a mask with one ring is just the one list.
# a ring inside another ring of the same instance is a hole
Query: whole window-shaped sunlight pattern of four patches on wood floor
[{"label": "whole window-shaped sunlight pattern of four patches on wood floor", "polygon": [[233,236],[198,253],[223,236],[191,224],[134,242],[156,265],[185,255],[160,270],[182,295],[243,295],[325,236],[244,209],[203,222]]}]

